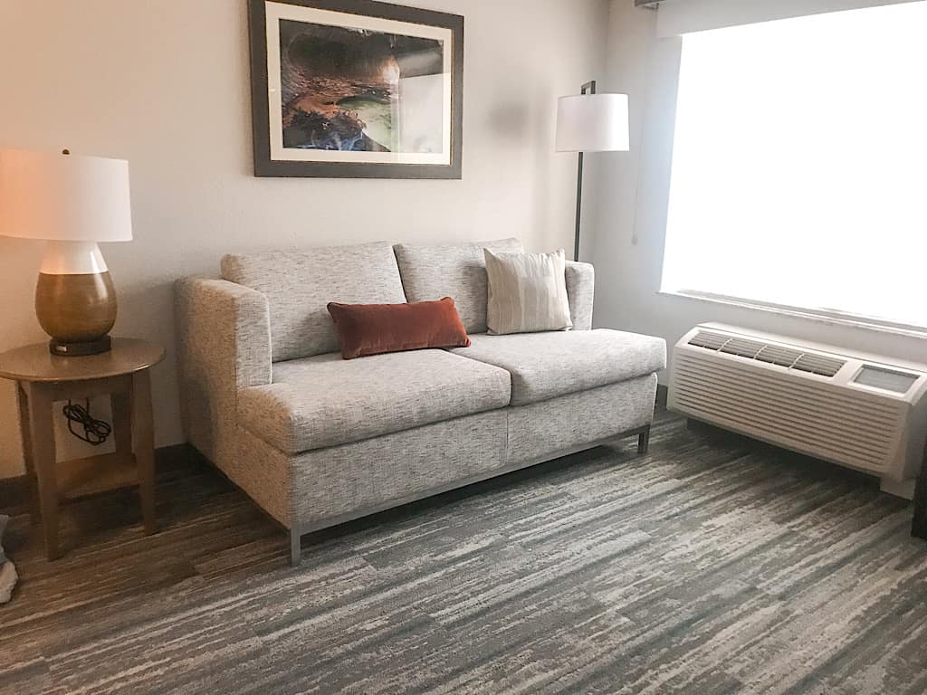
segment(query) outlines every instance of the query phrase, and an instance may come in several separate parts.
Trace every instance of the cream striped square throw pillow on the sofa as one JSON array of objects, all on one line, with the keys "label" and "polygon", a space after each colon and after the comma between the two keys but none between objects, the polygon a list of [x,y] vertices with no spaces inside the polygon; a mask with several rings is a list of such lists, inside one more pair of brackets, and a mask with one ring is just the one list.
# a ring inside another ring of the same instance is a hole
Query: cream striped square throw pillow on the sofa
[{"label": "cream striped square throw pillow on the sofa", "polygon": [[493,253],[484,248],[483,253],[489,274],[486,323],[490,335],[573,327],[563,249],[553,253]]}]

